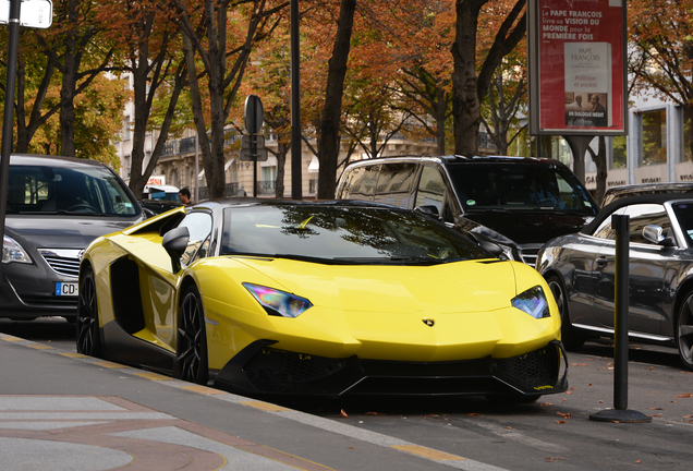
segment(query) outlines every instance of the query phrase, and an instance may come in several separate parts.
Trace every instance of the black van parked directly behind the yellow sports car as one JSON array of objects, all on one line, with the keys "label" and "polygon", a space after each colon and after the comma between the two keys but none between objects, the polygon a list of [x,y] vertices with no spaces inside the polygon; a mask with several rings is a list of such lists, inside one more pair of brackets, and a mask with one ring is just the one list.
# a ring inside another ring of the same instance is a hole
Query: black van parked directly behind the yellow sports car
[{"label": "black van parked directly behind the yellow sports car", "polygon": [[337,197],[429,214],[532,266],[545,242],[580,231],[598,210],[563,164],[524,157],[362,160],[346,167]]}]

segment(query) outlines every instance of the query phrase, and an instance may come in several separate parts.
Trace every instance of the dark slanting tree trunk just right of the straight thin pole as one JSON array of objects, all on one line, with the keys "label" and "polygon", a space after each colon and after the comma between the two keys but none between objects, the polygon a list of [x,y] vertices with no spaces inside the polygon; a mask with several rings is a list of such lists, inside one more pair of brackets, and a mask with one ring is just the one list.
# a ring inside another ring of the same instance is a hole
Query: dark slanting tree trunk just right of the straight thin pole
[{"label": "dark slanting tree trunk just right of the straight thin pole", "polygon": [[351,48],[351,31],[354,25],[356,0],[342,0],[332,57],[329,60],[325,108],[318,142],[318,198],[333,198],[337,189],[337,161],[339,158],[339,125],[342,110],[342,93],[346,61]]}]

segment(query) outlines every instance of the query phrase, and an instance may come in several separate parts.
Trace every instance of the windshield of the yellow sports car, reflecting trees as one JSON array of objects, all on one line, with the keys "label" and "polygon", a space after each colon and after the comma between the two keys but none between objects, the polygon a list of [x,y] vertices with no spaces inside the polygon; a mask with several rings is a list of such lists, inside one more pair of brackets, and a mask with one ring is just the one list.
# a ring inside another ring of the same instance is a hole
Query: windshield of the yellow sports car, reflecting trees
[{"label": "windshield of the yellow sports car, reflecting trees", "polygon": [[331,263],[442,263],[490,258],[467,239],[411,212],[275,205],[224,209],[222,255]]}]

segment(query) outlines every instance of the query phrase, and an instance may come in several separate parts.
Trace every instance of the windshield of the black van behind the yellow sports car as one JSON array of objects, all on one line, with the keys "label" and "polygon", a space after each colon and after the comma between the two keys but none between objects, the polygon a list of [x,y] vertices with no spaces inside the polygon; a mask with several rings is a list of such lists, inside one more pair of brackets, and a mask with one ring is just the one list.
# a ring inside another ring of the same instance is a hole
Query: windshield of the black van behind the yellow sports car
[{"label": "windshield of the black van behind the yellow sports car", "polygon": [[464,212],[488,209],[563,209],[595,216],[587,190],[568,169],[500,162],[448,166]]}]

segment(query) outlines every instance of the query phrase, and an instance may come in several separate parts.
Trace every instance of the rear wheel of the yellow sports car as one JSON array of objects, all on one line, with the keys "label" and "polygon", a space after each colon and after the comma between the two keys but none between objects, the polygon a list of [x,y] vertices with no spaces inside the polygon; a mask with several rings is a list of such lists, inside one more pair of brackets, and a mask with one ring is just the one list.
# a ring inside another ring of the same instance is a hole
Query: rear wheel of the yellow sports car
[{"label": "rear wheel of the yellow sports car", "polygon": [[89,357],[104,357],[101,331],[99,329],[99,309],[96,298],[94,270],[86,266],[80,279],[80,298],[75,318],[77,352]]}]

